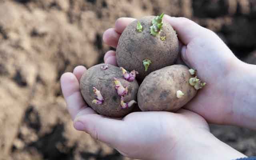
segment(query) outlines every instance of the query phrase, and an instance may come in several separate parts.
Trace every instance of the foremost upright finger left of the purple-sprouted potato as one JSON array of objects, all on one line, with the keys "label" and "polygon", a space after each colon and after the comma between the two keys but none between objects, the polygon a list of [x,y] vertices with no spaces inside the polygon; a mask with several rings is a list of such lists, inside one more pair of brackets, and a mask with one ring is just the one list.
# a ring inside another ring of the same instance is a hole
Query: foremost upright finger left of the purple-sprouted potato
[{"label": "foremost upright finger left of the purple-sprouted potato", "polygon": [[60,78],[60,84],[63,96],[66,100],[68,112],[72,119],[87,105],[80,93],[80,85],[78,79],[73,73],[64,73]]}]

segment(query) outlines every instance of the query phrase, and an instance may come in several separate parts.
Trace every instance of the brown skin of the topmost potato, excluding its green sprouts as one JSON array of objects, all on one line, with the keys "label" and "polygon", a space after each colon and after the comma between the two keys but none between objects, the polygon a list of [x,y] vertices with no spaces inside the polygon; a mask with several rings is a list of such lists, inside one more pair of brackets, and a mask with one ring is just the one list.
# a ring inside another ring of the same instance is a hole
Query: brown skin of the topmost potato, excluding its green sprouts
[{"label": "brown skin of the topmost potato, excluding its green sprouts", "polygon": [[[163,20],[160,36],[166,36],[164,41],[150,34],[154,18],[155,16],[145,16],[139,19],[143,26],[142,32],[136,30],[137,20],[129,24],[122,32],[116,48],[118,66],[128,71],[138,71],[136,79],[141,82],[150,72],[174,64],[178,57],[178,38],[168,22]],[[152,61],[148,71],[145,71],[142,62],[146,58]]]}]

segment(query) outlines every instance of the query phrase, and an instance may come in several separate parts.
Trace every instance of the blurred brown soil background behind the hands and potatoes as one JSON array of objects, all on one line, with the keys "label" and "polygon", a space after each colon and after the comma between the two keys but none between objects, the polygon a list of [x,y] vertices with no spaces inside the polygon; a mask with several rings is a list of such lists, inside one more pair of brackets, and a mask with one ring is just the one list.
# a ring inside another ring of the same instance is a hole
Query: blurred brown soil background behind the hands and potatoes
[{"label": "blurred brown soil background behind the hands and potatoes", "polygon": [[[256,0],[0,0],[0,160],[128,160],[74,130],[60,76],[103,61],[110,48],[102,34],[117,18],[162,12],[213,30],[238,58],[256,64]],[[256,132],[211,130],[256,155]]]}]

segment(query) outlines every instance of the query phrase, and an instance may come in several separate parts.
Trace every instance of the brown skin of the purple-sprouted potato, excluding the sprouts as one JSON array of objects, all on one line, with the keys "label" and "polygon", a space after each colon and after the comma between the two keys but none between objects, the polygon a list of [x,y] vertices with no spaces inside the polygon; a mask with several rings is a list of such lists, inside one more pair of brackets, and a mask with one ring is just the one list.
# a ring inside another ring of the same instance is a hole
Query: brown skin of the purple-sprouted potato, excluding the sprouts
[{"label": "brown skin of the purple-sprouted potato, excluding the sprouts", "polygon": [[[135,104],[130,108],[122,109],[120,106],[120,96],[116,93],[114,77],[120,80],[123,86],[128,86],[128,94],[125,96],[125,102],[137,100],[138,83],[136,80],[128,82],[122,75],[122,70],[116,66],[108,64],[108,69],[101,70],[98,64],[86,70],[80,80],[80,89],[86,103],[98,114],[109,117],[123,117],[132,112]],[[92,100],[96,99],[93,87],[100,90],[104,102],[100,105],[93,104]]]}]

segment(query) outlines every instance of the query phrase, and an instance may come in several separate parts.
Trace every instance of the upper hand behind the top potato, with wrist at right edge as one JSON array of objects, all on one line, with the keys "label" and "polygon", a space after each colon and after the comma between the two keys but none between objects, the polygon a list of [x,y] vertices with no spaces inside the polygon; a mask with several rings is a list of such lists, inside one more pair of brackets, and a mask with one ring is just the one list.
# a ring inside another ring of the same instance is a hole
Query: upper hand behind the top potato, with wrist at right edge
[{"label": "upper hand behind the top potato, with wrist at right edge", "polygon": [[[184,108],[200,114],[211,123],[256,129],[256,67],[238,60],[211,30],[187,18],[165,15],[164,19],[178,34],[182,59],[206,82],[206,86]],[[115,28],[104,33],[104,42],[116,47],[120,34],[133,20],[119,18]],[[116,65],[115,52],[108,51],[104,60]]]}]

